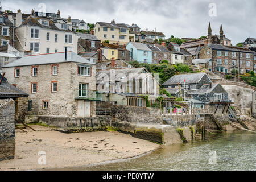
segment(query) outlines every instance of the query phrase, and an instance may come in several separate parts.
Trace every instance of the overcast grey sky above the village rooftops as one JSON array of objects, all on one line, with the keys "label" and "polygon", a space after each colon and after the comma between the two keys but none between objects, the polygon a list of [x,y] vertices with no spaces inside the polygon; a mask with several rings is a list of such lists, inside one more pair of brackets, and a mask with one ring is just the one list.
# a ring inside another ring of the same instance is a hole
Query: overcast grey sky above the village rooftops
[{"label": "overcast grey sky above the village rooftops", "polygon": [[233,45],[247,37],[256,38],[255,0],[2,0],[1,6],[2,10],[21,9],[23,13],[31,13],[31,9],[42,10],[42,6],[39,7],[42,2],[48,13],[57,13],[60,9],[61,18],[70,15],[86,23],[112,19],[116,23],[136,23],[142,30],[156,28],[166,38],[206,36],[208,22],[212,34],[217,35],[222,24],[224,34]]}]

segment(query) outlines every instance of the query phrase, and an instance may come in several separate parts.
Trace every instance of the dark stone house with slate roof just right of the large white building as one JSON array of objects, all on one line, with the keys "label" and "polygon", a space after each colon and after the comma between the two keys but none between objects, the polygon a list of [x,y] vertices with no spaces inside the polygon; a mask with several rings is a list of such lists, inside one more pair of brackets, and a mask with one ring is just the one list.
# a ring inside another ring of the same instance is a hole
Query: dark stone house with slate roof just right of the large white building
[{"label": "dark stone house with slate roof just right of the large white building", "polygon": [[95,52],[100,49],[101,41],[96,38],[96,36],[92,34],[84,34],[77,32],[79,37],[77,52]]}]

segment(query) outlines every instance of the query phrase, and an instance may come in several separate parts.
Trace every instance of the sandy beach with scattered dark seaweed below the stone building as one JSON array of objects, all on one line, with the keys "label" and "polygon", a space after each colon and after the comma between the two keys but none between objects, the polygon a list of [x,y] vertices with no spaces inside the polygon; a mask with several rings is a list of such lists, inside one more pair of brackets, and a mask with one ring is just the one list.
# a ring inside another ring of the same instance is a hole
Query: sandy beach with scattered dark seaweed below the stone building
[{"label": "sandy beach with scattered dark seaweed below the stone building", "polygon": [[117,131],[64,134],[43,126],[32,127],[36,131],[16,130],[15,159],[1,161],[0,170],[84,166],[132,158],[160,147]]}]

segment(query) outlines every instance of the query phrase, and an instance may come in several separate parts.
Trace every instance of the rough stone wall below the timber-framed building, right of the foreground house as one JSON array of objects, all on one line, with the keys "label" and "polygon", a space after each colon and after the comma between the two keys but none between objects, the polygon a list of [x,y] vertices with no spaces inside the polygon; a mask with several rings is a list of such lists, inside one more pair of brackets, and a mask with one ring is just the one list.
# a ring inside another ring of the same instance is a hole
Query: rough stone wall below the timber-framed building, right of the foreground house
[{"label": "rough stone wall below the timber-framed building, right of the foreground house", "polygon": [[111,109],[114,118],[129,123],[161,123],[162,110],[146,107],[114,105]]}]

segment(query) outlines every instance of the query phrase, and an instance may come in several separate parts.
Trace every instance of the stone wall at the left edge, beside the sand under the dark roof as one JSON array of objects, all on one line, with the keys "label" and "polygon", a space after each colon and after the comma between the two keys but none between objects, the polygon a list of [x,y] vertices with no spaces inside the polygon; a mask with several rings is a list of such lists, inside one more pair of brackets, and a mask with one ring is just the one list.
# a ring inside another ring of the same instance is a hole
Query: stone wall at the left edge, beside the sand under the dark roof
[{"label": "stone wall at the left edge, beside the sand under the dark roof", "polygon": [[0,160],[14,159],[15,154],[15,103],[0,100]]}]

